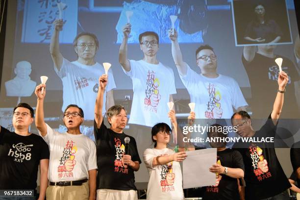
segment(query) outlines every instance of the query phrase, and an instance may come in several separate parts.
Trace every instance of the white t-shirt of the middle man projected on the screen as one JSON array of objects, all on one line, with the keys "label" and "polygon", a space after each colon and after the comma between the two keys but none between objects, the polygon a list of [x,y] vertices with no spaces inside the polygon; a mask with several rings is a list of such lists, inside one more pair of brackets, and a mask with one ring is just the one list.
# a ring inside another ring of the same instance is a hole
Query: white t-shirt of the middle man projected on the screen
[{"label": "white t-shirt of the middle man projected on the screen", "polygon": [[131,69],[126,75],[132,79],[133,100],[129,124],[152,127],[164,122],[171,126],[167,102],[176,94],[173,70],[162,63],[129,60]]}]

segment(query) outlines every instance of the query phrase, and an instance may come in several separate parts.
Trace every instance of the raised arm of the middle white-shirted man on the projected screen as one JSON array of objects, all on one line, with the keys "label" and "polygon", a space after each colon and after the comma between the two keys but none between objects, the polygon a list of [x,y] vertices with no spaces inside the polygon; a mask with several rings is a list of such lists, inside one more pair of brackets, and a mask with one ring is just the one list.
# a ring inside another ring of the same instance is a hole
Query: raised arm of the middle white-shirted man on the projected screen
[{"label": "raised arm of the middle white-shirted man on the projected screen", "polygon": [[130,34],[130,31],[131,31],[131,25],[126,24],[123,27],[123,41],[121,43],[120,50],[119,50],[119,63],[122,65],[123,69],[126,72],[130,71],[130,62],[127,59],[127,41],[128,41],[128,36]]}]

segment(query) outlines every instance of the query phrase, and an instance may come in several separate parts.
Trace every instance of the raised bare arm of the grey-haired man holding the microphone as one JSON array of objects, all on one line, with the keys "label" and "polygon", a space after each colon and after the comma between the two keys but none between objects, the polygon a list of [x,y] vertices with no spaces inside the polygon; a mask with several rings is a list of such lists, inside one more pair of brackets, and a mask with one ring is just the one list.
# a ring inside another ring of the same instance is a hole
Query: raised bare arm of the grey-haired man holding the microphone
[{"label": "raised bare arm of the grey-haired man holding the microphone", "polygon": [[107,75],[101,75],[99,78],[99,88],[98,88],[98,94],[95,103],[95,121],[96,121],[97,128],[100,128],[100,125],[102,124],[103,121],[102,107],[103,107],[103,95],[104,95],[106,84],[107,84]]}]

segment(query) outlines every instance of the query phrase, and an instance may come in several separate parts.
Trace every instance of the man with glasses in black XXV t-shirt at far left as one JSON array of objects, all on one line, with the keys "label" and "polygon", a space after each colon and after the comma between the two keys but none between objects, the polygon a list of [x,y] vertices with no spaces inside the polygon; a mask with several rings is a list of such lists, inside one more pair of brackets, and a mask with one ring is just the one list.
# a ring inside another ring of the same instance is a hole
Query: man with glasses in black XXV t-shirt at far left
[{"label": "man with glasses in black XXV t-shirt at far left", "polygon": [[[30,105],[19,103],[13,112],[15,131],[0,126],[0,190],[34,190],[32,195],[36,196],[40,165],[39,200],[44,200],[50,153],[43,138],[28,131],[33,115]],[[32,197],[32,200],[35,198]]]}]

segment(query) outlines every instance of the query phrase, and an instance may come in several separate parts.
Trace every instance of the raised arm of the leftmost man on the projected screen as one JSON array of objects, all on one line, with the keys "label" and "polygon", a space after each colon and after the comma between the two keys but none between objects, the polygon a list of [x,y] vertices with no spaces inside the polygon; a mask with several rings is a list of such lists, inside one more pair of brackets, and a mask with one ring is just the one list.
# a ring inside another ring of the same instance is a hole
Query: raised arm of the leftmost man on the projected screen
[{"label": "raised arm of the leftmost man on the projected screen", "polygon": [[58,19],[53,22],[54,30],[50,42],[50,53],[57,70],[60,70],[63,62],[63,56],[59,51],[59,32],[62,30],[63,24],[62,19]]}]

